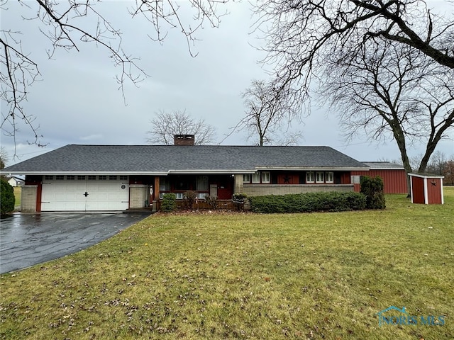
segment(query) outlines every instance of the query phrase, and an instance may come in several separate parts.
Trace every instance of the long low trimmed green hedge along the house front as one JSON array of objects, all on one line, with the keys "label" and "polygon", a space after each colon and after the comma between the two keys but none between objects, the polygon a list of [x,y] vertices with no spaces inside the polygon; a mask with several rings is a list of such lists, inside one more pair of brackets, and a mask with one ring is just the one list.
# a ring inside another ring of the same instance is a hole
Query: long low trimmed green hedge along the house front
[{"label": "long low trimmed green hedge along the house front", "polygon": [[249,198],[250,210],[259,213],[316,212],[364,210],[366,198],[362,193],[320,192],[283,196],[267,195]]}]

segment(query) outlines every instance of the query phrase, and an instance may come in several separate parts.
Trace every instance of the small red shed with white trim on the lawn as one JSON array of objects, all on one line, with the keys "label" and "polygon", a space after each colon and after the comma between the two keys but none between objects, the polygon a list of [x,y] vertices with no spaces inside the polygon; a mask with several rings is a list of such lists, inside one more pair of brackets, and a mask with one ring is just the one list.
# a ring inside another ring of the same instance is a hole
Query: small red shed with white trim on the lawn
[{"label": "small red shed with white trim on the lawn", "polygon": [[411,203],[443,204],[444,176],[430,174],[409,174]]}]

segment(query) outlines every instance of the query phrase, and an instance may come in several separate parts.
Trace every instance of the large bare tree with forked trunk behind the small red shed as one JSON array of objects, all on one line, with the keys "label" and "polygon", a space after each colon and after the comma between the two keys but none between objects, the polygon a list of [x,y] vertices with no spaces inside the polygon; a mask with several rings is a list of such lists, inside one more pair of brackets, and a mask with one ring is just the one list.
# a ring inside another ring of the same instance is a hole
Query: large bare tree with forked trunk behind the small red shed
[{"label": "large bare tree with forked trunk behind the small red shed", "polygon": [[423,142],[417,170],[426,171],[438,142],[454,125],[454,69],[381,37],[363,42],[354,53],[346,47],[325,62],[321,94],[338,111],[345,134],[392,137],[407,172],[413,171],[408,146]]}]

